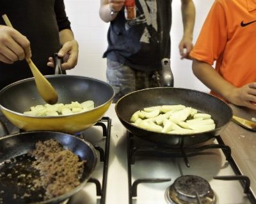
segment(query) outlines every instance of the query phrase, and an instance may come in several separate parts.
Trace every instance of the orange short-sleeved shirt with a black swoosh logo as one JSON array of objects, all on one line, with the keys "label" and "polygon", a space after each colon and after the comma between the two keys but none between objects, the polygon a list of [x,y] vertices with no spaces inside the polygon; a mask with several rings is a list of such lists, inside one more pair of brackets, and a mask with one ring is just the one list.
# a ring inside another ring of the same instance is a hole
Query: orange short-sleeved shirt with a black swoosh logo
[{"label": "orange short-sleeved shirt with a black swoosh logo", "polygon": [[256,82],[256,0],[216,0],[191,51],[230,84]]}]

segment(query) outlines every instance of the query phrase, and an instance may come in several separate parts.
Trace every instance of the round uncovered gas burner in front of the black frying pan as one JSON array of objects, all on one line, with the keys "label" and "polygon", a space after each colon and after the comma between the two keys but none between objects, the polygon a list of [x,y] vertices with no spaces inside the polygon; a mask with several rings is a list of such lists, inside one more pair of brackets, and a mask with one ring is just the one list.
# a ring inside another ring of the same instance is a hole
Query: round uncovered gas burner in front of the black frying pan
[{"label": "round uncovered gas burner in front of the black frying pan", "polygon": [[171,204],[216,203],[216,196],[209,182],[195,175],[177,178],[172,186],[166,189],[165,198]]}]

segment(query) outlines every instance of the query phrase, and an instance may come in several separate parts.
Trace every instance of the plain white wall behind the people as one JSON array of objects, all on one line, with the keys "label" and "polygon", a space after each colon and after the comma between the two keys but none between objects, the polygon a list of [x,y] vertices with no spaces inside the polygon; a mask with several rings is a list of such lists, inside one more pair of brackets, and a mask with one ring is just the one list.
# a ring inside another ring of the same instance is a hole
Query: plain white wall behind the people
[{"label": "plain white wall behind the people", "polygon": [[[164,1],[164,0],[157,0]],[[194,43],[204,23],[204,19],[214,0],[194,0],[196,7],[196,23]],[[100,20],[100,0],[65,0],[67,15],[72,30],[79,42],[79,60],[76,68],[68,71],[70,75],[82,75],[106,81],[106,59],[102,54],[107,47],[108,24]],[[180,1],[173,0],[173,24],[171,31],[172,57],[171,66],[174,86],[188,89],[208,91],[191,70],[191,61],[180,60],[179,41],[182,37],[182,18]]]}]

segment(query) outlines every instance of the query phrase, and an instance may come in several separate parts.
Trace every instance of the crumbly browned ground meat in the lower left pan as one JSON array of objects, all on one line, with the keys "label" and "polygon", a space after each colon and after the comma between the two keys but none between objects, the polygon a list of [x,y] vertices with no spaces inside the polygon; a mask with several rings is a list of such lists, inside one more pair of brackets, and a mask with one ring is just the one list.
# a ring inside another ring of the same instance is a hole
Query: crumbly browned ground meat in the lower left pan
[{"label": "crumbly browned ground meat in the lower left pan", "polygon": [[56,140],[37,142],[30,154],[36,159],[32,166],[40,171],[40,178],[33,180],[33,184],[35,188],[45,189],[45,199],[68,193],[81,184],[86,161],[79,161],[76,154]]}]

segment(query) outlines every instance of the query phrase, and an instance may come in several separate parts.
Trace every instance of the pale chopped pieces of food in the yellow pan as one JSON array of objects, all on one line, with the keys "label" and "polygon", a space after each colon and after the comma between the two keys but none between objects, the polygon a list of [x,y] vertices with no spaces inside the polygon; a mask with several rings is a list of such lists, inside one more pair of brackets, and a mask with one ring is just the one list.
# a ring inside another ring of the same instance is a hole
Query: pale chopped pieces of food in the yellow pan
[{"label": "pale chopped pieces of food in the yellow pan", "polygon": [[24,115],[33,116],[58,116],[58,115],[71,115],[73,113],[86,112],[94,108],[93,101],[84,101],[83,103],[74,102],[68,104],[56,103],[54,105],[36,105],[31,106],[28,112],[24,112]]}]

